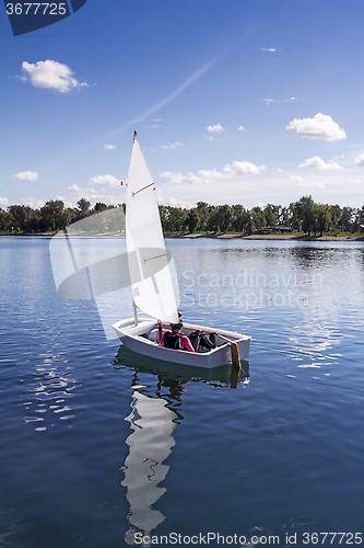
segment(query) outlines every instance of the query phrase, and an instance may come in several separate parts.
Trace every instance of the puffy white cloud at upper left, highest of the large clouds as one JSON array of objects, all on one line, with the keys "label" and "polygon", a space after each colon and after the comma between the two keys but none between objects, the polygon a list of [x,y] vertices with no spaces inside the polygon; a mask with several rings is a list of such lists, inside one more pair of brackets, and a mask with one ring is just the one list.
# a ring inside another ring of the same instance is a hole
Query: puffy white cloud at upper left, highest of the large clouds
[{"label": "puffy white cloud at upper left, highest of the large clouds", "polygon": [[21,79],[24,81],[30,79],[35,88],[48,88],[68,93],[72,89],[87,85],[86,82],[79,83],[67,65],[50,59],[35,64],[24,61],[22,69],[24,76]]}]

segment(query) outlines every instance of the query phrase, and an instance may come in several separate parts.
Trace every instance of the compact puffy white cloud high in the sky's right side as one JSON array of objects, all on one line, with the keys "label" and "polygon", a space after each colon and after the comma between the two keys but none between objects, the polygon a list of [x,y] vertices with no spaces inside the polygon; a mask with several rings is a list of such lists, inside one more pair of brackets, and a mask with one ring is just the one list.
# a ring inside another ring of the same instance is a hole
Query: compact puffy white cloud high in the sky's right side
[{"label": "compact puffy white cloud high in the sky's right side", "polygon": [[331,116],[315,114],[313,118],[294,118],[286,126],[293,137],[306,137],[308,139],[341,140],[347,138],[344,129],[333,122]]}]

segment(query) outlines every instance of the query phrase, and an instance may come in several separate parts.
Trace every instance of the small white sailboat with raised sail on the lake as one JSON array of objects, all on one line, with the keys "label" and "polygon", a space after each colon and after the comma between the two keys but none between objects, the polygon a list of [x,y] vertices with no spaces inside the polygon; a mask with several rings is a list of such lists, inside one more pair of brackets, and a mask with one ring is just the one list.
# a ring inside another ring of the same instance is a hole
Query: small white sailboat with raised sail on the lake
[{"label": "small white sailboat with raised sail on the lake", "polygon": [[[155,186],[137,132],[128,174],[126,240],[134,316],[113,324],[122,344],[138,354],[164,362],[207,368],[233,363],[239,368],[239,358],[249,354],[248,335],[184,322],[183,334],[188,336],[195,331],[206,336],[213,334],[215,347],[187,352],[158,344],[157,319],[165,331],[172,323],[178,323],[180,316],[169,270],[172,255],[165,248]],[[148,317],[139,317],[139,310]]]}]

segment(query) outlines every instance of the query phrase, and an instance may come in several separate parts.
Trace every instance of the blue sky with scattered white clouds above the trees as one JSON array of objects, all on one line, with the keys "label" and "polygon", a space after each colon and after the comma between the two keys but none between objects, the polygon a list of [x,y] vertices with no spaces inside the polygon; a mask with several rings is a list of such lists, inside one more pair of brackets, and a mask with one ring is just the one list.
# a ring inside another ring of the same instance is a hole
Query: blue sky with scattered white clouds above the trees
[{"label": "blue sky with scattered white clouds above the trees", "polygon": [[[125,201],[133,130],[161,204],[364,202],[362,0],[87,0],[0,10],[0,207]],[[106,147],[106,148],[105,148]]]}]

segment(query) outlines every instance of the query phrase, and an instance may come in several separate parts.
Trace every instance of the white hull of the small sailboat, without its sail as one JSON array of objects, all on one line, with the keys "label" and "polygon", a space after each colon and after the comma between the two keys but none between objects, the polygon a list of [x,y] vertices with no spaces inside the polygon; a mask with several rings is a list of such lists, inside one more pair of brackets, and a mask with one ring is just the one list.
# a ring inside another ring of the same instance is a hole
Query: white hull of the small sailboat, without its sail
[{"label": "white hull of the small sailboat, without its sail", "polygon": [[[168,326],[164,326],[168,328]],[[214,330],[203,326],[193,326],[184,323],[183,333],[189,334],[192,331],[200,330],[203,333],[215,333],[216,347],[209,352],[196,353],[186,352],[183,350],[172,350],[160,346],[156,342],[148,339],[150,333],[156,329],[156,322],[152,319],[140,319],[136,326],[134,319],[118,321],[113,324],[117,335],[122,344],[138,354],[172,362],[176,364],[189,365],[193,367],[212,368],[232,363],[230,341],[237,343],[240,358],[244,359],[249,355],[250,336],[234,333],[225,330]],[[219,334],[218,334],[219,333]],[[220,336],[223,335],[223,336]]]}]

